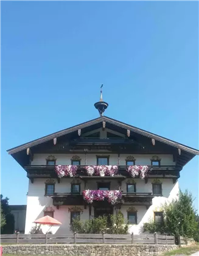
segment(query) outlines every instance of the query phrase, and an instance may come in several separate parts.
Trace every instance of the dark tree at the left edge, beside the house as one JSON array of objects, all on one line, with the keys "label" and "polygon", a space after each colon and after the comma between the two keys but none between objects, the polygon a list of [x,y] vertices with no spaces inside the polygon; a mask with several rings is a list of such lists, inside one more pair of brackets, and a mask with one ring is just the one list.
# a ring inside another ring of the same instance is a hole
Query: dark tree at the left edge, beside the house
[{"label": "dark tree at the left edge, beside the house", "polygon": [[15,217],[10,210],[9,198],[5,197],[5,199],[3,199],[2,194],[0,194],[0,204],[5,217],[5,224],[1,229],[1,233],[12,234],[15,230]]}]

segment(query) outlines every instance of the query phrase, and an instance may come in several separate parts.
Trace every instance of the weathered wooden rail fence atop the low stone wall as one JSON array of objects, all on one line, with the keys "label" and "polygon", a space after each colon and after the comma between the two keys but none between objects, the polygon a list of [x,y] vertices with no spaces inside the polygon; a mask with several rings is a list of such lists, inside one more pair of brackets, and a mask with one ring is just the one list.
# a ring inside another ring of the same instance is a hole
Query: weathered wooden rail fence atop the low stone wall
[{"label": "weathered wooden rail fence atop the low stone wall", "polygon": [[[183,240],[184,241],[184,240]],[[169,235],[115,235],[115,234],[80,234],[70,235],[40,235],[19,234],[0,235],[1,244],[71,244],[71,243],[98,243],[98,244],[175,244],[175,237]]]}]

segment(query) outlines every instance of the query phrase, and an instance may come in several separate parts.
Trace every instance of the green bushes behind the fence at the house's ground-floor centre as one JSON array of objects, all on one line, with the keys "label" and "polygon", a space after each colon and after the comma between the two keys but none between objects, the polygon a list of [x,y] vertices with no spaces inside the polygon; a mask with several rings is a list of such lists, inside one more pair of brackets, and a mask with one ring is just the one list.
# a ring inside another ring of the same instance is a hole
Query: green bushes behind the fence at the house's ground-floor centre
[{"label": "green bushes behind the fence at the house's ground-floor centre", "polygon": [[[110,219],[110,221],[109,221]],[[80,221],[78,218],[73,219],[70,229],[77,233],[128,233],[128,224],[124,220],[121,212],[117,216],[110,215],[99,216],[98,218]]]}]

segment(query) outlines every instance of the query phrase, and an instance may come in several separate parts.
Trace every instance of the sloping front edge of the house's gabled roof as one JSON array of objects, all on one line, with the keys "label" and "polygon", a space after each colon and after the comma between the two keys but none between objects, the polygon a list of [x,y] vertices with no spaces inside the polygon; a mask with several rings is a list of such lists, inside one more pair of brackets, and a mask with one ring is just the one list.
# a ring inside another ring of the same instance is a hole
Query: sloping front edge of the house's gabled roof
[{"label": "sloping front edge of the house's gabled roof", "polygon": [[90,121],[82,123],[82,124],[78,124],[77,126],[72,126],[72,127],[68,128],[68,129],[65,129],[65,130],[60,130],[60,132],[55,132],[55,133],[52,133],[52,134],[47,135],[45,137],[38,138],[37,140],[30,141],[29,143],[22,144],[21,146],[9,149],[7,152],[12,155],[12,154],[15,154],[16,152],[23,151],[24,149],[31,148],[33,146],[37,146],[38,144],[44,143],[44,142],[49,141],[49,140],[53,140],[54,138],[58,138],[58,137],[61,137],[63,135],[66,135],[68,133],[75,132],[79,129],[84,129],[84,128],[89,127],[89,126],[93,126],[95,124],[102,123],[103,121],[105,121],[106,123],[109,123],[113,126],[120,127],[122,129],[127,129],[127,130],[130,130],[131,132],[135,132],[135,133],[138,133],[140,135],[144,135],[145,137],[153,138],[157,141],[160,141],[162,143],[166,143],[170,146],[173,146],[175,148],[178,148],[178,149],[181,149],[183,151],[189,152],[191,154],[199,155],[199,151],[197,149],[190,148],[189,146],[177,143],[173,140],[169,140],[167,138],[161,137],[161,136],[156,135],[154,133],[147,132],[145,130],[139,129],[139,128],[134,127],[134,126],[130,126],[129,124],[122,123],[122,122],[117,121],[117,120],[112,119],[112,118],[108,118],[107,116],[100,116],[99,118],[90,120]]}]

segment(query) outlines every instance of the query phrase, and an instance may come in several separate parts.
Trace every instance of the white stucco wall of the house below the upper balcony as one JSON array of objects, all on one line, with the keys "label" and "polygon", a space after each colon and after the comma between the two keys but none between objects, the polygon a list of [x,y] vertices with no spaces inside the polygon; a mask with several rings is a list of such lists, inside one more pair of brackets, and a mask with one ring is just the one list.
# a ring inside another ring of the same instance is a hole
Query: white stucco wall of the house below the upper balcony
[{"label": "white stucco wall of the house below the upper balcony", "polygon": [[[45,192],[45,180],[46,179],[35,179],[34,183],[29,181],[29,192],[27,196],[27,211],[26,211],[26,229],[25,233],[29,233],[31,227],[34,225],[33,222],[44,216],[44,208],[47,206],[51,206],[54,208],[54,218],[60,221],[62,224],[60,227],[52,227],[51,231],[53,233],[63,234],[69,233],[69,223],[70,223],[70,213],[68,208],[71,206],[60,206],[59,209],[52,205],[52,198],[49,196],[44,196]],[[103,180],[103,179],[102,179]],[[162,196],[153,198],[153,205],[146,209],[145,206],[134,205],[136,210],[138,210],[138,225],[130,226],[130,232],[134,232],[135,234],[141,232],[142,226],[144,222],[147,222],[150,218],[153,218],[153,212],[161,210],[161,204],[164,204],[166,201],[171,201],[178,194],[178,182],[173,184],[172,179],[160,179],[162,182]],[[108,180],[106,180],[108,181]],[[111,181],[111,190],[117,189],[118,183],[116,180]],[[152,193],[152,180],[149,179],[148,183],[145,184],[144,180],[135,179],[136,181],[136,191]],[[72,179],[61,179],[60,183],[57,183],[55,180],[55,192],[56,193],[67,193],[71,192],[71,182]],[[98,180],[100,182],[100,180]],[[126,191],[126,182],[122,182],[122,190]],[[97,190],[96,181],[89,181],[87,184],[89,189]],[[81,183],[81,191],[84,189],[84,183]],[[77,205],[78,206],[78,205]],[[89,218],[88,207],[84,209],[83,206],[79,206],[83,209],[83,213],[80,216],[82,220]],[[127,218],[127,208],[129,206],[122,206],[121,210],[124,214],[125,218]],[[92,213],[94,215],[94,210],[92,207]]]}]

